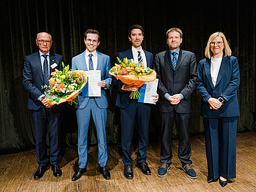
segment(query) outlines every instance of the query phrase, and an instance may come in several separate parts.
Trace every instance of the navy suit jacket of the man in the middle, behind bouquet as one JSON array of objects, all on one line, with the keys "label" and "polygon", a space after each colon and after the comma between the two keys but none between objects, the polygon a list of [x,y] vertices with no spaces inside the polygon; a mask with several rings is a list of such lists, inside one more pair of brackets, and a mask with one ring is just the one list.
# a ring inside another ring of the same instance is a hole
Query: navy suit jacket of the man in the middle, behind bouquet
[{"label": "navy suit jacket of the man in the middle, behind bouquet", "polygon": [[[143,49],[143,51],[146,55],[147,67],[149,67],[150,69],[153,69],[153,67],[154,67],[153,54],[149,53],[147,50],[144,50],[144,49]],[[123,60],[123,58],[126,58],[126,57],[128,58],[128,60],[133,59],[132,48],[119,53],[119,55],[117,57],[119,57],[120,60]],[[116,60],[116,63],[119,64],[118,60]],[[113,81],[114,85],[116,85],[116,88],[119,90],[119,92],[116,96],[116,106],[120,107],[120,108],[128,107],[130,104],[130,97],[129,97],[130,91],[121,90],[121,88],[123,86],[123,82],[121,80],[117,80],[117,78],[115,78],[114,76],[112,76],[112,81]]]}]

